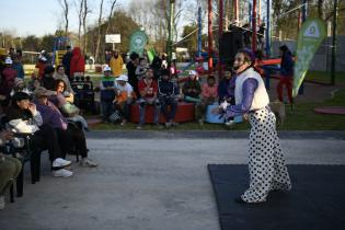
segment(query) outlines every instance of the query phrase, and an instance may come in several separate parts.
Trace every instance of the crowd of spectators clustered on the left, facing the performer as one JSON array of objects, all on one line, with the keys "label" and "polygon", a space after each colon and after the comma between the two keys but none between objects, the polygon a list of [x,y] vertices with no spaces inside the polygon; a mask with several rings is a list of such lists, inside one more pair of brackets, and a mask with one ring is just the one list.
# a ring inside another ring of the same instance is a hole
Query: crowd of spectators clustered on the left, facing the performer
[{"label": "crowd of spectators clustered on the left, facing the performer", "polygon": [[[70,56],[70,57],[69,57]],[[74,92],[69,76],[83,76],[84,64],[81,50],[74,47],[65,55],[69,65],[54,68],[45,50],[39,54],[36,68],[38,74],[24,79],[21,53],[13,49],[0,54],[0,147],[10,142],[14,148],[25,145],[15,134],[31,134],[32,156],[47,150],[50,169],[55,177],[69,177],[71,161],[69,153],[81,157],[81,166],[97,166],[91,160],[84,131],[88,124],[73,104]],[[68,71],[66,71],[68,70]],[[5,151],[4,151],[5,152]],[[4,192],[22,168],[21,154],[14,158],[0,153],[0,209],[4,207]]]}]

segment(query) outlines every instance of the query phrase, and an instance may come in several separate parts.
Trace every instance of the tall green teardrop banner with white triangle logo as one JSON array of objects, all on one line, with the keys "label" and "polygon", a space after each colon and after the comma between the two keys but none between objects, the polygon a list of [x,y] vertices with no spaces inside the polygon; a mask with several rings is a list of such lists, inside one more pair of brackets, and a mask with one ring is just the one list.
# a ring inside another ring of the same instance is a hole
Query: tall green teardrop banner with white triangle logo
[{"label": "tall green teardrop banner with white triangle logo", "polygon": [[297,60],[294,71],[292,96],[297,96],[310,62],[326,35],[325,24],[320,19],[307,20],[298,34]]}]

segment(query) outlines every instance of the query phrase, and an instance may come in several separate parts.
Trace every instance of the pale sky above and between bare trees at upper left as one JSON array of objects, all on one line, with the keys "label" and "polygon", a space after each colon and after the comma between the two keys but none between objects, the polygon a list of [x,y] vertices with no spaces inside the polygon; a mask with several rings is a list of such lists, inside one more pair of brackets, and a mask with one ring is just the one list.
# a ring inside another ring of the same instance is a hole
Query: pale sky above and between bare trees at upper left
[{"label": "pale sky above and between bare trees at upper left", "polygon": [[[89,23],[94,23],[99,14],[99,1],[88,2],[92,10]],[[104,4],[108,5],[108,2],[105,0]],[[117,2],[118,7],[126,8],[129,0],[117,0]],[[62,28],[65,25],[58,0],[0,0],[0,32],[10,31],[18,36],[42,36],[54,34],[59,25]],[[74,8],[70,10],[69,30],[78,31],[78,16]]]}]

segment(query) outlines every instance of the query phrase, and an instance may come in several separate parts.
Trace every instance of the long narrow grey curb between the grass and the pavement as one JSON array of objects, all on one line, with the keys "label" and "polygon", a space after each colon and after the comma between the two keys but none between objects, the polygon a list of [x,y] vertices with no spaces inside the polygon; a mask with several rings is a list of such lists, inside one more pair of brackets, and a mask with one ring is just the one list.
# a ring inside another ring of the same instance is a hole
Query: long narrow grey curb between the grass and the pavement
[{"label": "long narrow grey curb between the grass and the pavement", "polygon": [[[107,138],[130,138],[130,139],[181,139],[181,138],[232,138],[243,139],[249,138],[249,130],[183,130],[183,131],[154,131],[154,130],[92,130],[85,134],[87,138],[91,139],[107,139]],[[320,131],[303,131],[303,130],[281,130],[278,131],[281,139],[336,139],[345,140],[345,130],[320,130]]]}]

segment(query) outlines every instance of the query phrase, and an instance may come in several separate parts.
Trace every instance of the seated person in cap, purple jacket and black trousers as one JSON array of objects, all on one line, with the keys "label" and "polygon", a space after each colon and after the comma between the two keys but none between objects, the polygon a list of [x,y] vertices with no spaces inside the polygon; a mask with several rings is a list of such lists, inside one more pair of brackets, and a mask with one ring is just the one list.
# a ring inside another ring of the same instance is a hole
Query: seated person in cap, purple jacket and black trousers
[{"label": "seated person in cap, purple jacket and black trousers", "polygon": [[38,87],[34,93],[34,103],[42,115],[43,125],[53,127],[56,131],[61,154],[66,157],[71,147],[76,146],[77,151],[82,157],[80,162],[81,166],[97,166],[97,163],[88,158],[87,140],[83,131],[76,125],[68,123],[59,108],[48,101],[48,96],[54,95],[55,92]]}]

